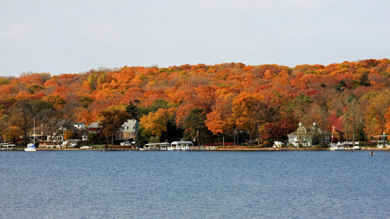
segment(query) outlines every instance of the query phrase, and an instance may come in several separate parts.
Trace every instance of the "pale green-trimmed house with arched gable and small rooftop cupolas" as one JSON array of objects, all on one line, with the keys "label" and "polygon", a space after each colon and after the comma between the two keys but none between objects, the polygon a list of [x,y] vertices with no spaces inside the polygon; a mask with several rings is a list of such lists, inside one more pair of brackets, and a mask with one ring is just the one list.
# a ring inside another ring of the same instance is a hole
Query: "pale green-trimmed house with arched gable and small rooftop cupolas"
[{"label": "pale green-trimmed house with arched gable and small rooftop cupolas", "polygon": [[294,147],[301,144],[302,146],[313,146],[322,143],[329,143],[330,133],[321,130],[318,128],[318,125],[314,122],[312,126],[303,126],[299,123],[299,127],[296,131],[287,134],[288,143],[292,144]]}]

